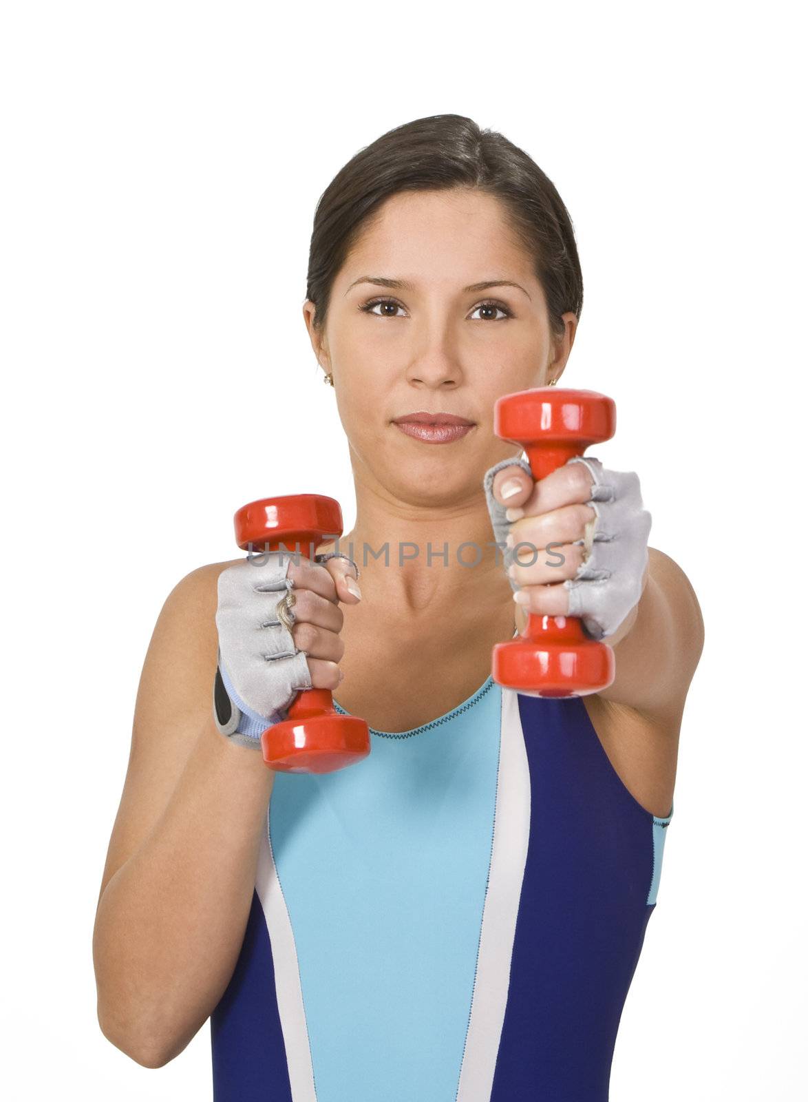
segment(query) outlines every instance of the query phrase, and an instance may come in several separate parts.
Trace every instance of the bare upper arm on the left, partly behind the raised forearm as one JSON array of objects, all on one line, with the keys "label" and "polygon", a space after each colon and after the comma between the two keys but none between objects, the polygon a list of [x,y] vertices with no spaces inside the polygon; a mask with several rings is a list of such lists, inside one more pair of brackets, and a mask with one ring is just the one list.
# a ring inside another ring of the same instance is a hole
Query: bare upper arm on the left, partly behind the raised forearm
[{"label": "bare upper arm on the left, partly behind the raised forearm", "polygon": [[172,588],[160,611],[140,674],[129,764],[101,893],[159,821],[194,741],[211,715],[218,647],[217,580],[238,561],[208,563],[190,571]]}]

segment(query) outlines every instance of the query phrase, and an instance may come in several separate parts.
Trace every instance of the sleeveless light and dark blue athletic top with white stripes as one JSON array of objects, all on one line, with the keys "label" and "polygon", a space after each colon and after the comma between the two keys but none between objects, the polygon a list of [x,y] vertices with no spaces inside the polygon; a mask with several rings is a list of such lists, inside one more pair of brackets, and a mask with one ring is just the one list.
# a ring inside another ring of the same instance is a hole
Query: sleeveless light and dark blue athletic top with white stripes
[{"label": "sleeveless light and dark blue athletic top with white stripes", "polygon": [[357,765],[279,773],[215,1102],[605,1102],[671,815],[581,698],[491,677]]}]

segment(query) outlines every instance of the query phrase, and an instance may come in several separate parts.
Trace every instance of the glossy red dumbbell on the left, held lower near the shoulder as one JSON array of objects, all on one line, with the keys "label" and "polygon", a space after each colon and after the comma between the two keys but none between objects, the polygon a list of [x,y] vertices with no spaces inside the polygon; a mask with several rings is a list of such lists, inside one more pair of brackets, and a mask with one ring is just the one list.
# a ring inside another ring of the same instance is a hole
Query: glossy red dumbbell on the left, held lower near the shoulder
[{"label": "glossy red dumbbell on the left, held lower near the shoulder", "polygon": [[[298,550],[310,559],[325,537],[342,534],[339,501],[319,494],[267,497],[242,506],[233,517],[236,542],[261,554]],[[330,690],[301,690],[287,717],[261,735],[264,761],[279,773],[336,773],[370,754],[364,720],[335,711]]]}]

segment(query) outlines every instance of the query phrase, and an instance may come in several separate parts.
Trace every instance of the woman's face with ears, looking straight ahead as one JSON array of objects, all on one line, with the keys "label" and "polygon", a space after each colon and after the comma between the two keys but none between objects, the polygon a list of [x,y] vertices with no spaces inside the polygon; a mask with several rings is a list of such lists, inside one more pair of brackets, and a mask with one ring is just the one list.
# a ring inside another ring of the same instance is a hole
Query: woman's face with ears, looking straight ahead
[{"label": "woman's face with ears, looking straight ahead", "polygon": [[[479,285],[500,281],[511,285]],[[565,314],[554,339],[532,258],[499,201],[469,188],[387,199],[335,279],[325,332],[308,300],[304,314],[334,376],[354,476],[416,506],[479,493],[483,472],[517,454],[494,435],[494,402],[560,375],[577,324]],[[394,421],[417,412],[473,428],[426,443]]]}]

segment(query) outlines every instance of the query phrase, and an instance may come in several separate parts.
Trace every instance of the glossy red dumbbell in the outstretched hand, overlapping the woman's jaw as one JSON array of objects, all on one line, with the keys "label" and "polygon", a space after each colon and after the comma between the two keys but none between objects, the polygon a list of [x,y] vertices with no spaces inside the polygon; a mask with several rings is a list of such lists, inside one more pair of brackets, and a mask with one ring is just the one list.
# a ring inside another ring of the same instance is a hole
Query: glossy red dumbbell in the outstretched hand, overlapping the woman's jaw
[{"label": "glossy red dumbbell in the outstretched hand, overlapping the woman's jaw", "polygon": [[[610,440],[615,420],[612,399],[594,390],[536,387],[494,403],[494,432],[522,444],[536,480],[590,444]],[[507,689],[539,696],[586,695],[612,683],[614,652],[590,639],[575,616],[528,613],[523,634],[494,647],[492,677]]]}]

